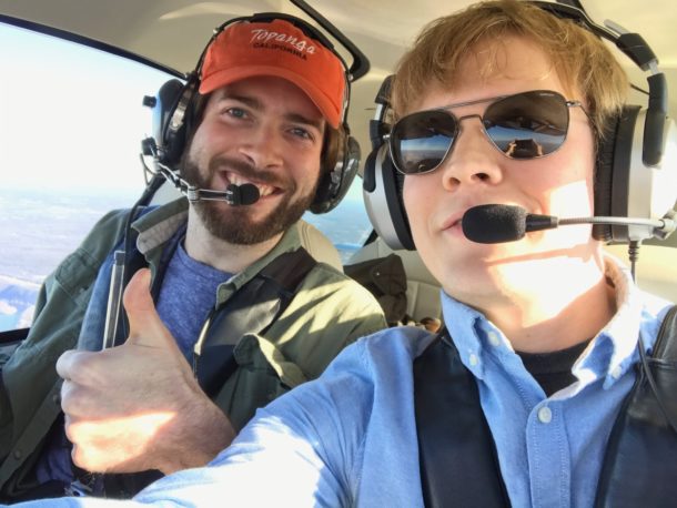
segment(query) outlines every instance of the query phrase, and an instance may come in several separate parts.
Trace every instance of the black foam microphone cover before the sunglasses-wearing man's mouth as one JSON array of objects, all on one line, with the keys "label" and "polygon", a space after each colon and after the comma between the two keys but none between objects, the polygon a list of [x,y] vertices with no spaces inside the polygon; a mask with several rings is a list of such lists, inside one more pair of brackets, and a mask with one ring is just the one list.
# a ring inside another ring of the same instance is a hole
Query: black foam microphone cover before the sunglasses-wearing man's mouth
[{"label": "black foam microphone cover before the sunglasses-wearing man's mouth", "polygon": [[461,221],[466,238],[477,243],[514,242],[526,232],[526,210],[505,204],[468,209]]}]

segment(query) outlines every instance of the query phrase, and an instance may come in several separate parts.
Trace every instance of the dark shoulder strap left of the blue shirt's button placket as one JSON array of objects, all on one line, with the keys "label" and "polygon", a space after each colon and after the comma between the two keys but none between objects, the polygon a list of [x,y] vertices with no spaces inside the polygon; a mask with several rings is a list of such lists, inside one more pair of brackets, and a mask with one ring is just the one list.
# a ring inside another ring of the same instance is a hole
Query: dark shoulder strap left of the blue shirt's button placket
[{"label": "dark shoulder strap left of the blue shirt's button placket", "polygon": [[445,328],[414,360],[414,403],[425,506],[509,506],[475,377]]}]

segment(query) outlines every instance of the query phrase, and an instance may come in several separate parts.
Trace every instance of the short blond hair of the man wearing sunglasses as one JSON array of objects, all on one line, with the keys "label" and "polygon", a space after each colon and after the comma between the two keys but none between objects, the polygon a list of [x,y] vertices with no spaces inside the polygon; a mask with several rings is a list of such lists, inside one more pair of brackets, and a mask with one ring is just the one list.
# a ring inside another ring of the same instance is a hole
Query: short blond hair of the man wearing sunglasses
[{"label": "short blond hair of the man wearing sunglasses", "polygon": [[[424,27],[397,65],[391,96],[395,115],[405,113],[431,83],[453,89],[465,58],[482,43],[511,35],[533,41],[548,57],[563,84],[583,94],[576,99],[585,103],[597,133],[605,132],[626,101],[625,71],[588,29],[517,0],[475,3]],[[487,64],[495,65],[495,59]]]}]

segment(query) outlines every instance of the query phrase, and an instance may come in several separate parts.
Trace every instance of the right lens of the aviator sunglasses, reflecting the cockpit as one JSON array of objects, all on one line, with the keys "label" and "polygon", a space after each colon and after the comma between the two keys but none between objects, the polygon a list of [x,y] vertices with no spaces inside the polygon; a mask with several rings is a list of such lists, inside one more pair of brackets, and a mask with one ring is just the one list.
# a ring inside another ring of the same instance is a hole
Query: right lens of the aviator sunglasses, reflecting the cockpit
[{"label": "right lens of the aviator sunglasses, reflecting the cockpit", "polygon": [[511,159],[536,159],[555,152],[566,139],[569,110],[555,92],[518,93],[491,104],[484,129]]}]

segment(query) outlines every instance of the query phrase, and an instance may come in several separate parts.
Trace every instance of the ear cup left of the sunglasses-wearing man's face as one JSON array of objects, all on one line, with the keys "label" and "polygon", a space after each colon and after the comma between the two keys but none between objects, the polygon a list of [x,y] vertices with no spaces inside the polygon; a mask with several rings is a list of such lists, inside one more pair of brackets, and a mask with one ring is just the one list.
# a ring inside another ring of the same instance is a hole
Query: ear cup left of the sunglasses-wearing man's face
[{"label": "ear cup left of the sunglasses-wearing man's face", "polygon": [[416,248],[402,199],[404,177],[395,170],[387,145],[382,144],[368,154],[364,165],[364,204],[374,230],[394,251]]}]

